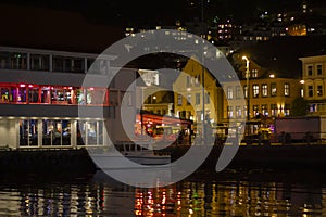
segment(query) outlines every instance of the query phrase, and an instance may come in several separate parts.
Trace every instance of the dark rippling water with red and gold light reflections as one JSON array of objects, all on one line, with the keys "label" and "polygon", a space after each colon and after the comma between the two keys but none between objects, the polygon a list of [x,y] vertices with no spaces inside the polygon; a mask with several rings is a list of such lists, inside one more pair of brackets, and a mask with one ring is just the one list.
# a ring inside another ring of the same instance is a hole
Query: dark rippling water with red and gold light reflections
[{"label": "dark rippling water with red and gold light reflections", "polygon": [[166,188],[87,176],[2,175],[0,216],[326,216],[318,170],[199,170]]}]

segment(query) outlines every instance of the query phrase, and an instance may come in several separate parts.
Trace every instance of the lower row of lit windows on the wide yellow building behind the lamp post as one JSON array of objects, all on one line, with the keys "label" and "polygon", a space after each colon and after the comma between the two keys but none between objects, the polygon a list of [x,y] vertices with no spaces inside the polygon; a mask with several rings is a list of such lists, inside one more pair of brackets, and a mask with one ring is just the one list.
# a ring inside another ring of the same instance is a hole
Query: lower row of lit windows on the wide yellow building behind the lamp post
[{"label": "lower row of lit windows on the wide yellow building behind the lamp post", "polygon": [[[247,106],[227,106],[227,116],[229,118],[234,117],[247,117]],[[284,115],[288,116],[290,115],[290,104],[285,104],[285,106],[277,106],[277,104],[271,104],[269,107],[267,104],[263,105],[252,105],[252,110],[250,113],[252,113],[251,116],[258,116],[258,115],[263,115],[263,116],[278,116],[278,115]]]}]

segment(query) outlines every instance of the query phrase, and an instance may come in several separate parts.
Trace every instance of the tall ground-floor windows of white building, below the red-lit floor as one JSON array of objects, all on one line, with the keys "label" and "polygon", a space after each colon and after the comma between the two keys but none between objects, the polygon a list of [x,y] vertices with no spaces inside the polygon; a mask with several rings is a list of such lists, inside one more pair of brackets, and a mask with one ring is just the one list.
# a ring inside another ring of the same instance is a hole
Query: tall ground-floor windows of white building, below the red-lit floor
[{"label": "tall ground-floor windows of white building, below the red-lit floor", "polygon": [[[75,130],[72,130],[75,128]],[[20,146],[103,145],[103,120],[21,119]],[[41,139],[39,139],[41,136]]]}]

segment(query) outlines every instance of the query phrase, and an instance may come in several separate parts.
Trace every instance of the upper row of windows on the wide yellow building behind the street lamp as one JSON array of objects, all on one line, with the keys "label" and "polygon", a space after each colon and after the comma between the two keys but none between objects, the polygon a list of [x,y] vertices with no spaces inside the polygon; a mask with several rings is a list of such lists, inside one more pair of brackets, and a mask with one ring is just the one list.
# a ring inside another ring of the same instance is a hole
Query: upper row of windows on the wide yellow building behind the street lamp
[{"label": "upper row of windows on the wide yellow building behind the street lamp", "polygon": [[[234,87],[227,87],[227,99],[240,99],[241,98],[241,87],[237,86],[236,89]],[[243,87],[243,93],[244,98],[248,98],[248,88],[247,86]],[[252,85],[252,98],[258,98],[259,95],[262,95],[263,98],[268,97],[268,85],[262,84],[261,85],[261,91],[260,86],[258,84]],[[272,82],[269,85],[269,94],[271,97],[277,95],[277,84]],[[290,85],[288,82],[284,84],[284,95],[290,97]]]}]

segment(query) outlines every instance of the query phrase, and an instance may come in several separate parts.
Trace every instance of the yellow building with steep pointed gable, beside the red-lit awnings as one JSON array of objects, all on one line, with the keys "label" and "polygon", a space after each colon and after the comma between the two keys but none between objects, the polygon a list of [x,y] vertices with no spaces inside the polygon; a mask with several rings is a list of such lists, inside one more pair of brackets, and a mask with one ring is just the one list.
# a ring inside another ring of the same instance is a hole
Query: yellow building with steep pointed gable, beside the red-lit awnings
[{"label": "yellow building with steep pointed gable, beside the red-lit awnings", "polygon": [[[204,94],[202,80],[204,77]],[[189,59],[173,84],[175,115],[201,123],[203,116],[216,124],[222,119],[222,90],[216,79],[195,59]],[[204,95],[204,100],[203,100]],[[204,101],[204,104],[203,104]],[[204,108],[204,113],[202,112]],[[204,114],[204,115],[203,115]]]}]

